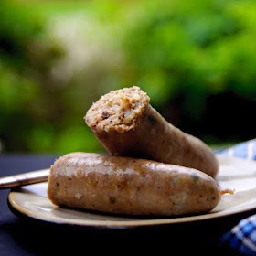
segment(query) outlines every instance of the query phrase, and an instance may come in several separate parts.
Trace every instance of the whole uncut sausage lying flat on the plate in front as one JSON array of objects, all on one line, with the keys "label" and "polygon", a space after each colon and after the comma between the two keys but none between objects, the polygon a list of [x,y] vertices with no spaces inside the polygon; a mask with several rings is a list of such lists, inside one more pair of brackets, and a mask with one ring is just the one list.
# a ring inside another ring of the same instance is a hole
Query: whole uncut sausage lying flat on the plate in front
[{"label": "whole uncut sausage lying flat on the plate in front", "polygon": [[215,179],[152,160],[70,153],[51,166],[48,198],[57,206],[114,214],[179,216],[219,203]]}]

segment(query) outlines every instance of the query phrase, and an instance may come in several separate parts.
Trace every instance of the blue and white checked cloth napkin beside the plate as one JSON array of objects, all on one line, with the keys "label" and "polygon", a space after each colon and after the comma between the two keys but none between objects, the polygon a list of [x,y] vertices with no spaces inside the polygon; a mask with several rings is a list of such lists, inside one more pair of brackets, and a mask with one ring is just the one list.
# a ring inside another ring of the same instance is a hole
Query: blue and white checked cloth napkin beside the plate
[{"label": "blue and white checked cloth napkin beside the plate", "polygon": [[[256,160],[256,139],[237,144],[216,154]],[[221,244],[244,255],[256,255],[256,214],[241,219],[233,229],[222,236]]]}]

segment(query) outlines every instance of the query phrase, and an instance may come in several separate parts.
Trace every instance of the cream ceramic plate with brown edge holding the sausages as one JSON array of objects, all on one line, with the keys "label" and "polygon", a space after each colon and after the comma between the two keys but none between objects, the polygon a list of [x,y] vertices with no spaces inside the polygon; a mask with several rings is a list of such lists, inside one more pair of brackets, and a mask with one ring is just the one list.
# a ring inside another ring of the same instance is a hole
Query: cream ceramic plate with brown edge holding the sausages
[{"label": "cream ceramic plate with brown edge holding the sausages", "polygon": [[19,187],[8,196],[9,206],[19,215],[48,222],[90,226],[94,228],[127,229],[139,226],[169,225],[206,219],[217,219],[256,208],[256,162],[218,156],[220,189],[235,189],[234,195],[225,194],[219,205],[207,214],[155,218],[110,215],[93,211],[58,208],[47,197],[47,182]]}]

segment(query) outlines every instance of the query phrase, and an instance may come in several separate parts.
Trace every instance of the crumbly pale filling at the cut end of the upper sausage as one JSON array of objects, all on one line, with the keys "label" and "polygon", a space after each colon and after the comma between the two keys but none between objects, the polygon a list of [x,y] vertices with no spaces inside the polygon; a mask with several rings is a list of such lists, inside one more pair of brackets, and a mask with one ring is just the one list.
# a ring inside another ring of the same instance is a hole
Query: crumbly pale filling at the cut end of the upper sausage
[{"label": "crumbly pale filling at the cut end of the upper sausage", "polygon": [[137,118],[149,104],[149,97],[139,87],[111,91],[92,104],[86,123],[96,130],[119,133],[134,129]]}]

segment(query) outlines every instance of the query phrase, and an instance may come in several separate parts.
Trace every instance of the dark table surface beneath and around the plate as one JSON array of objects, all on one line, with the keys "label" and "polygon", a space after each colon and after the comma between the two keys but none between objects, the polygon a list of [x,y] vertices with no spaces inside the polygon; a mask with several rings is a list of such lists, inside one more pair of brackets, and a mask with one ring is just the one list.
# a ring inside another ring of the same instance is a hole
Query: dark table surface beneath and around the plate
[{"label": "dark table surface beneath and around the plate", "polygon": [[[0,176],[48,168],[59,155],[0,154]],[[17,217],[7,204],[9,189],[0,190],[0,255],[86,255],[89,253],[135,253],[170,255],[236,255],[220,237],[240,219],[256,211],[221,219],[186,224],[133,228],[91,229],[63,226]],[[176,252],[175,252],[176,251]],[[178,251],[178,253],[177,253]],[[174,253],[175,252],[175,253]]]}]

